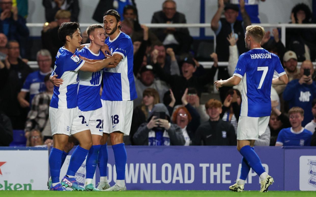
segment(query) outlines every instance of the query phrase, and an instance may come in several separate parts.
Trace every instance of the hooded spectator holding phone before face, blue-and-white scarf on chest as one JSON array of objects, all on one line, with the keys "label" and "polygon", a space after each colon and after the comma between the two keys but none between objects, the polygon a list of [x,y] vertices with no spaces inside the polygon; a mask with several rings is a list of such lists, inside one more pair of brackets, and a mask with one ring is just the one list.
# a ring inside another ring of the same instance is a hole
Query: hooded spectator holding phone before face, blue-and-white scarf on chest
[{"label": "hooded spectator holding phone before face, blue-and-white scarf on chest", "polygon": [[[158,117],[159,116],[159,117]],[[183,146],[185,139],[181,128],[170,123],[169,112],[164,104],[155,104],[148,122],[141,124],[133,136],[135,145]]]}]

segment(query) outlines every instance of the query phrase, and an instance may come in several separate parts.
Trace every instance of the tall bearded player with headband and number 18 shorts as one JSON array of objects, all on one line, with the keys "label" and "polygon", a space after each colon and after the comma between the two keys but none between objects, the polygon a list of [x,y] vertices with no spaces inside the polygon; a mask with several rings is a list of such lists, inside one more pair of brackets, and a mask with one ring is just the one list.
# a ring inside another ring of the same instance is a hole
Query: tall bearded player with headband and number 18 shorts
[{"label": "tall bearded player with headband and number 18 shorts", "polygon": [[121,32],[121,17],[116,10],[108,10],[103,16],[103,26],[109,37],[105,43],[112,56],[119,58],[117,67],[104,69],[103,91],[101,102],[103,107],[103,144],[99,152],[100,185],[107,182],[106,140],[110,136],[117,173],[114,186],[105,191],[124,191],[126,150],[123,136],[129,135],[133,115],[133,100],[137,98],[133,77],[133,44],[131,38]]}]

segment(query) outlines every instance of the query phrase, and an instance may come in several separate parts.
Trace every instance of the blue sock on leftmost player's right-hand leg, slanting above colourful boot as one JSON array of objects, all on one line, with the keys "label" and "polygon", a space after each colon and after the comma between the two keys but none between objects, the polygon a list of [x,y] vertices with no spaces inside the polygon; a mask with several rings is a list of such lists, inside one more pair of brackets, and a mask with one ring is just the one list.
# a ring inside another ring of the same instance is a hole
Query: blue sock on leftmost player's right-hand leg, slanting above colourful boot
[{"label": "blue sock on leftmost player's right-hand leg, slanting above colourful boot", "polygon": [[70,162],[66,175],[75,176],[76,171],[80,168],[81,164],[85,160],[89,150],[80,147],[76,147],[75,151],[70,157]]}]

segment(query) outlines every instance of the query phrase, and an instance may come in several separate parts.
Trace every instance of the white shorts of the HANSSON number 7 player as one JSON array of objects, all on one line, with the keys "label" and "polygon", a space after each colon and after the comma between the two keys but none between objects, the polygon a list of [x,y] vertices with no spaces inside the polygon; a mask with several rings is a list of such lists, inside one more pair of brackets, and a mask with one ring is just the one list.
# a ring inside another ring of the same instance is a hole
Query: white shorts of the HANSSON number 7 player
[{"label": "white shorts of the HANSSON number 7 player", "polygon": [[237,140],[258,140],[269,124],[270,116],[239,116]]}]

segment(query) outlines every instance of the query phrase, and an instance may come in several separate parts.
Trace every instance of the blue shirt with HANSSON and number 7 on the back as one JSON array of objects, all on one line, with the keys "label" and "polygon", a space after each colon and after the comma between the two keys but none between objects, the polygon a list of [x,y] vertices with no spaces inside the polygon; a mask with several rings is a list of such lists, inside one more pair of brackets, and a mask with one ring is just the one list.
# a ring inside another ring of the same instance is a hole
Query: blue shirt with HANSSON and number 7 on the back
[{"label": "blue shirt with HANSSON and number 7 on the back", "polygon": [[271,84],[274,72],[285,75],[279,57],[263,48],[240,55],[234,72],[242,79],[240,116],[263,117],[271,113]]}]

